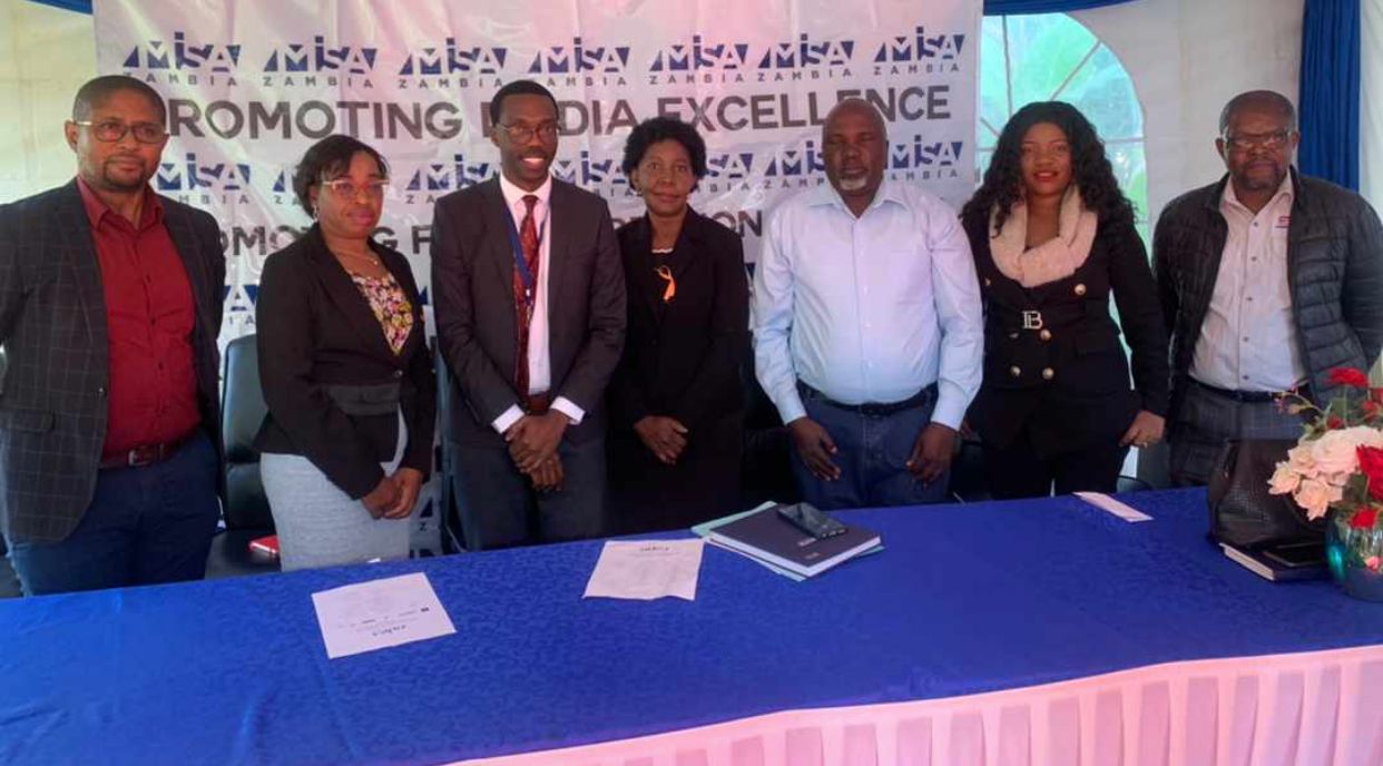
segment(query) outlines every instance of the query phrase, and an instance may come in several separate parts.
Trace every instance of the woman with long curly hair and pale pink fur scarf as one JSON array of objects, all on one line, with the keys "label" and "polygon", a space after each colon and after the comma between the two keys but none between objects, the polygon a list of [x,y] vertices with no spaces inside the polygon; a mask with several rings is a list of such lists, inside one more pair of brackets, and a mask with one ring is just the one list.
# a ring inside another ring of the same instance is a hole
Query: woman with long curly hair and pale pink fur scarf
[{"label": "woman with long curly hair and pale pink fur scarf", "polygon": [[1129,445],[1162,438],[1167,335],[1133,205],[1084,115],[1059,101],[1019,109],[961,221],[985,299],[969,423],[990,492],[1112,492]]}]

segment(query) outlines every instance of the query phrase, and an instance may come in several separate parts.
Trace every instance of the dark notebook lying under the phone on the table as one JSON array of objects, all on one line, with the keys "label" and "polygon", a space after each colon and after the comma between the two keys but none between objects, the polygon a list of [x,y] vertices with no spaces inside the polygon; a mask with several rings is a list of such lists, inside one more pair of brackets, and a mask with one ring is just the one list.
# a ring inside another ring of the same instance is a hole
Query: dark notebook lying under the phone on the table
[{"label": "dark notebook lying under the phone on the table", "polygon": [[878,534],[846,527],[844,535],[816,539],[766,507],[711,530],[708,539],[802,577],[813,577],[849,561],[880,543]]}]

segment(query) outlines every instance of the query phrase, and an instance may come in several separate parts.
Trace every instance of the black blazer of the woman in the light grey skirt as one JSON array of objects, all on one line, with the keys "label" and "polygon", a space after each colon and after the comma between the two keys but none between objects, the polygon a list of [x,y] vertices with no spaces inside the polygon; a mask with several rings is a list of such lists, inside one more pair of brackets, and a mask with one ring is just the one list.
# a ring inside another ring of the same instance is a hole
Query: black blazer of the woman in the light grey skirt
[{"label": "black blazer of the woman in the light grey skirt", "polygon": [[400,253],[375,242],[371,247],[414,307],[414,328],[398,354],[317,225],[268,257],[254,301],[260,387],[268,405],[256,449],[303,455],[357,499],[383,478],[379,463],[394,458],[398,416],[347,415],[328,387],[398,382],[408,426],[401,467],[423,476],[431,473],[437,420],[437,380],[414,272]]}]

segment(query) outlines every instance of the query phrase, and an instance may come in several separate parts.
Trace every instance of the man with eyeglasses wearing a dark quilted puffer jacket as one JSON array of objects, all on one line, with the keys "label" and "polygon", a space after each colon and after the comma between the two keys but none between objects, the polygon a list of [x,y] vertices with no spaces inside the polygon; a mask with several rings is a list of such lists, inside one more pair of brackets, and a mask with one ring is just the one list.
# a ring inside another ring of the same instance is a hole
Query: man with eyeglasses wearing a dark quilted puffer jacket
[{"label": "man with eyeglasses wearing a dark quilted puffer jacket", "polygon": [[1336,366],[1383,343],[1383,228],[1361,196],[1292,167],[1283,95],[1249,91],[1220,115],[1228,173],[1173,200],[1153,267],[1171,333],[1171,481],[1206,484],[1227,440],[1297,438],[1282,391],[1332,394]]}]

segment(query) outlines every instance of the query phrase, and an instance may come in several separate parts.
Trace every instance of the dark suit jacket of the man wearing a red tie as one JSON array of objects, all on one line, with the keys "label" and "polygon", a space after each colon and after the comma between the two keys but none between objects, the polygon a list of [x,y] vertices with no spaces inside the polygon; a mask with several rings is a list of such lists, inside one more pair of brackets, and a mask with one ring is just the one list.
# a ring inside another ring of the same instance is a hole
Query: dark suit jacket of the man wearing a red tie
[{"label": "dark suit jacket of the man wearing a red tie", "polygon": [[[585,411],[573,442],[604,436],[604,390],[624,346],[624,270],[610,209],[599,196],[553,178],[548,254],[548,353],[552,397]],[[491,423],[519,404],[514,389],[513,250],[499,178],[437,200],[431,228],[437,342],[458,401],[454,438],[503,447]]]}]

